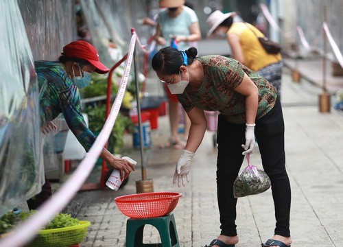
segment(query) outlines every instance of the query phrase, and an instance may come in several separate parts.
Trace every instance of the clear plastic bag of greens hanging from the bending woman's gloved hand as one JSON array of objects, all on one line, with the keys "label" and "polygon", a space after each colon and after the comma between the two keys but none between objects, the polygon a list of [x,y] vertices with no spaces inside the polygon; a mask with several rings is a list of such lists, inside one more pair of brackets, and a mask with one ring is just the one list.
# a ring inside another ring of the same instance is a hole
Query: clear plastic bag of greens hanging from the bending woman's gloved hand
[{"label": "clear plastic bag of greens hanging from the bending woman's gloved hand", "polygon": [[246,154],[248,166],[238,174],[233,184],[233,195],[235,198],[256,195],[270,188],[270,178],[268,175],[250,164],[250,154]]}]

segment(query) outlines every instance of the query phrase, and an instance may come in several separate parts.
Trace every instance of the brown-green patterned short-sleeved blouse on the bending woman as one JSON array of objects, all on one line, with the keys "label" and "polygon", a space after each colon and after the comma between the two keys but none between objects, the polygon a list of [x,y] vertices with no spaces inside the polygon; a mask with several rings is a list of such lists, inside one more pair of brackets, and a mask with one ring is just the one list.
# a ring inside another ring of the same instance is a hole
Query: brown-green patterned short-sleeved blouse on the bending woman
[{"label": "brown-green patterned short-sleeved blouse on the bending woman", "polygon": [[260,75],[248,69],[233,58],[224,56],[202,56],[197,58],[204,69],[204,80],[198,91],[187,86],[178,100],[188,112],[194,106],[203,110],[218,110],[228,122],[244,124],[246,122],[246,99],[234,89],[241,84],[244,73],[259,89],[259,106],[256,119],[268,113],[276,102],[276,89]]}]

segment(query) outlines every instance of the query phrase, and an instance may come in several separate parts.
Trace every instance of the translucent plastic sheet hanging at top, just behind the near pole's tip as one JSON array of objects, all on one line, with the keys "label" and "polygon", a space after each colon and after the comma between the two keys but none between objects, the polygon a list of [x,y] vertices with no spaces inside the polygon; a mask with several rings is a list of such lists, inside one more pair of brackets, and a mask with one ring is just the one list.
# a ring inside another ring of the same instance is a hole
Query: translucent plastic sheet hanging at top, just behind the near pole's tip
[{"label": "translucent plastic sheet hanging at top, just behind the near pole's tip", "polygon": [[[81,0],[81,8],[86,25],[91,33],[93,45],[97,48],[102,62],[112,67],[128,52],[131,37],[131,27],[135,28],[141,42],[146,43],[151,35],[144,25],[137,23],[137,19],[147,16],[145,5],[140,0]],[[117,56],[110,56],[108,40],[112,39],[117,46]],[[139,63],[143,63],[141,49],[137,48]]]}]

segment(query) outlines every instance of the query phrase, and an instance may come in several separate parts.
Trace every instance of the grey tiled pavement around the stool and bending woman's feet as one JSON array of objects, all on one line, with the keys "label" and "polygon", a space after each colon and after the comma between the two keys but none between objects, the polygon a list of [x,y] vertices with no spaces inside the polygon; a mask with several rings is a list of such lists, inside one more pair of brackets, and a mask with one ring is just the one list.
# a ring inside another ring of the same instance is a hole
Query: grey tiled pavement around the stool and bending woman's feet
[{"label": "grey tiled pavement around the stool and bending woman's feet", "polygon": [[[331,113],[319,113],[320,92],[307,81],[294,84],[290,71],[284,70],[281,101],[287,172],[292,186],[293,247],[343,246],[343,116],[333,109]],[[159,117],[158,124],[158,130],[152,131],[147,176],[153,179],[154,191],[182,193],[173,212],[180,246],[205,246],[220,233],[213,132],[206,132],[193,158],[191,183],[179,189],[171,180],[181,151],[158,149],[169,134],[167,117]],[[123,155],[139,161],[139,150],[132,149],[132,137],[126,136],[125,142]],[[252,155],[252,164],[261,168],[258,148]],[[130,175],[128,185],[119,191],[78,193],[66,211],[92,222],[82,246],[125,246],[128,217],[117,209],[114,198],[136,193],[135,180],[140,179],[141,170],[137,169]],[[275,223],[271,190],[239,198],[236,224],[240,238],[237,247],[259,246],[272,237]],[[145,227],[144,242],[158,242],[156,228]]]}]

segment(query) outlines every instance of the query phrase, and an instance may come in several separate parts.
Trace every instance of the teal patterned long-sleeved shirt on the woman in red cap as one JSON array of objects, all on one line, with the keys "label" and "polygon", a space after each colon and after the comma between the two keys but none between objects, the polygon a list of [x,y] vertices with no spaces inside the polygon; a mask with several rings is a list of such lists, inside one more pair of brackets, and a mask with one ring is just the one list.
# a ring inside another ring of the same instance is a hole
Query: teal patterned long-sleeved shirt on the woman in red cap
[{"label": "teal patterned long-sleeved shirt on the woman in red cap", "polygon": [[49,61],[36,61],[34,64],[39,86],[40,124],[56,119],[62,113],[70,130],[88,151],[95,135],[86,126],[78,88],[64,71],[64,65]]}]

